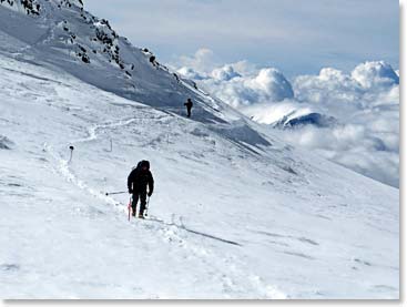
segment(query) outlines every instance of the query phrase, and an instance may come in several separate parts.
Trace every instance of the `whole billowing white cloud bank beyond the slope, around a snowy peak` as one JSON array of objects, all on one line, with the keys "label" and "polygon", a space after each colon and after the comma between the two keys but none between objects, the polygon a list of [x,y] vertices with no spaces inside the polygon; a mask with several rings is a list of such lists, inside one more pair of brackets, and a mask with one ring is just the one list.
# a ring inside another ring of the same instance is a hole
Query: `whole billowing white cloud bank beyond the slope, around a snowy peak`
[{"label": "whole billowing white cloud bank beyond the slope, around a snowy peak", "polygon": [[183,57],[179,73],[287,142],[399,186],[399,72],[383,61],[350,72],[324,68],[288,81],[275,68],[218,64],[211,50]]}]

